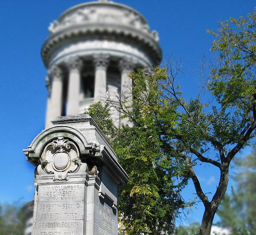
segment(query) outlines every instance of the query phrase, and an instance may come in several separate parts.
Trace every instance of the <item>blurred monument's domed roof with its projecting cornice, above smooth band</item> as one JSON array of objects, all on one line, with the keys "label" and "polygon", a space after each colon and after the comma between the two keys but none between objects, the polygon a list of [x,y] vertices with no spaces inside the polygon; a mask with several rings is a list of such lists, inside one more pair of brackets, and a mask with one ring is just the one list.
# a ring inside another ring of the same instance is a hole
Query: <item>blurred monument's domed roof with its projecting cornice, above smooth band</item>
[{"label": "blurred monument's domed roof with its projecting cornice, above smooth band", "polygon": [[99,0],[74,6],[50,24],[49,32],[41,51],[46,64],[48,52],[55,44],[69,37],[88,34],[131,37],[150,48],[155,64],[162,59],[158,34],[150,31],[145,18],[134,9],[112,1]]}]

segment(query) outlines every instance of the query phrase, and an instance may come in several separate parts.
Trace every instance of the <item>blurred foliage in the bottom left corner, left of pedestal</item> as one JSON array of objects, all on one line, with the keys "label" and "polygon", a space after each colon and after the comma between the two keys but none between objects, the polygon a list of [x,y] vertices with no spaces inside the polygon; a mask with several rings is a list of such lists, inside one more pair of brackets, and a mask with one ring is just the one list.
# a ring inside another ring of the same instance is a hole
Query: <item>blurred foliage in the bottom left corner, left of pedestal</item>
[{"label": "blurred foliage in the bottom left corner, left of pedestal", "polygon": [[0,235],[23,235],[25,215],[17,203],[0,204]]}]

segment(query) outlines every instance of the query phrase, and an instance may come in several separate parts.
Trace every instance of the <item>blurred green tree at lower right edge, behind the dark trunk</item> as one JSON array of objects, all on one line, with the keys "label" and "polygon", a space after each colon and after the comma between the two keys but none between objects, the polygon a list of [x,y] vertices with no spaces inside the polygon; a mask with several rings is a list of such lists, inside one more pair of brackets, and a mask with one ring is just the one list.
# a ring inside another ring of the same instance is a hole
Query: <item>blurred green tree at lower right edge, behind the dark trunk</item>
[{"label": "blurred green tree at lower right edge, behind the dark trunk", "polygon": [[237,175],[231,195],[225,195],[217,214],[220,225],[233,234],[255,234],[256,231],[256,146],[253,153],[235,160]]}]

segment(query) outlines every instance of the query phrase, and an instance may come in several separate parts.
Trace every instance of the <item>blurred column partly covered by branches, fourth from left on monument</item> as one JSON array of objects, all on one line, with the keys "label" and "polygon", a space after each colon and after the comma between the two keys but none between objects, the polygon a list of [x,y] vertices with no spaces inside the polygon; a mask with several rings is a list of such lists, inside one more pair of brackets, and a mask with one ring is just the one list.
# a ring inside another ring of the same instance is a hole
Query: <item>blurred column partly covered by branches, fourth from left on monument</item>
[{"label": "blurred column partly covered by branches, fourth from left on monument", "polygon": [[[124,59],[120,60],[120,62],[119,62],[119,69],[121,71],[120,100],[123,104],[123,109],[126,112],[130,112],[131,109],[129,108],[129,106],[131,106],[131,104],[132,104],[132,79],[129,77],[129,75],[131,74],[132,69],[134,69],[134,63],[131,60],[124,58]],[[122,110],[121,110],[121,112],[122,112]],[[123,118],[121,120],[121,124],[131,125],[131,123],[128,122],[128,118]]]}]

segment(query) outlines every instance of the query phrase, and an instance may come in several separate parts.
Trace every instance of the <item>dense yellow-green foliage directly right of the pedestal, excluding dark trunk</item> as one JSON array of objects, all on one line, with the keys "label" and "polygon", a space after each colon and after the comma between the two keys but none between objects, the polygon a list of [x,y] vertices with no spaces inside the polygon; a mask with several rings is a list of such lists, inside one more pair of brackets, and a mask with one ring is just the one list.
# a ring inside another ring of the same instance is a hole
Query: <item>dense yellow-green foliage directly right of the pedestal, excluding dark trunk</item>
[{"label": "dense yellow-green foliage directly right of the pedestal, excluding dark trunk", "polygon": [[[172,191],[182,189],[187,177],[183,176],[183,172],[177,175],[182,167],[178,167],[173,151],[163,151],[156,125],[156,115],[159,116],[160,112],[168,115],[166,120],[173,120],[172,125],[177,119],[175,113],[173,116],[169,113],[170,107],[159,103],[161,89],[157,81],[164,75],[166,72],[158,68],[153,75],[147,77],[143,70],[132,75],[135,85],[131,121],[136,124],[131,127],[127,125],[118,130],[113,127],[111,129],[108,121],[110,116],[102,115],[109,113],[108,106],[106,109],[106,106],[97,103],[89,109],[90,115],[101,121],[99,125],[105,134],[111,136],[110,141],[119,163],[130,177],[119,204],[122,218],[120,230],[125,234],[171,232],[173,228],[170,221],[173,221],[178,209],[186,206],[178,194],[175,197],[172,195]],[[127,113],[123,115],[127,116]],[[103,121],[105,119],[107,122]],[[178,178],[180,183],[177,183]]]}]

